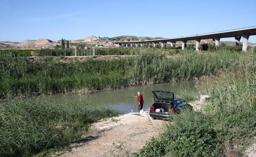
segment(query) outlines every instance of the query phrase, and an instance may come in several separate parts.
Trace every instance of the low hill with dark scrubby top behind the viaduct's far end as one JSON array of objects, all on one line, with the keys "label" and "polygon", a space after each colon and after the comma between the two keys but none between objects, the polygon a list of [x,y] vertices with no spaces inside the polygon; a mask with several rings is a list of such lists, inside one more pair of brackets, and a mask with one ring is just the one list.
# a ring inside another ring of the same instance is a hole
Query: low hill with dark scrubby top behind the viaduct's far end
[{"label": "low hill with dark scrubby top behind the viaduct's far end", "polygon": [[116,41],[138,41],[138,40],[157,40],[157,39],[164,39],[162,37],[137,37],[137,36],[133,36],[133,35],[122,35],[122,36],[117,36],[117,37],[112,37],[112,38],[108,38],[109,40],[116,40]]}]

